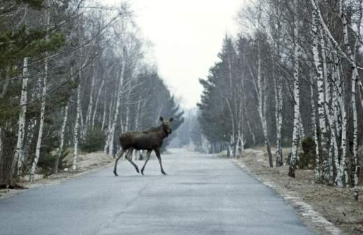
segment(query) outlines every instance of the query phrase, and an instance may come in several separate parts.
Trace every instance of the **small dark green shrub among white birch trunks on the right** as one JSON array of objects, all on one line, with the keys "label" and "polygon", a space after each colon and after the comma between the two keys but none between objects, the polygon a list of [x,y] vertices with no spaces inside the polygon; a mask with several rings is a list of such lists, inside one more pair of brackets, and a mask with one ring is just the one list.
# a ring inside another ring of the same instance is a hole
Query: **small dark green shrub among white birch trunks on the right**
[{"label": "small dark green shrub among white birch trunks on the right", "polygon": [[316,145],[313,138],[302,139],[302,152],[299,153],[297,167],[299,169],[314,169],[316,166]]}]

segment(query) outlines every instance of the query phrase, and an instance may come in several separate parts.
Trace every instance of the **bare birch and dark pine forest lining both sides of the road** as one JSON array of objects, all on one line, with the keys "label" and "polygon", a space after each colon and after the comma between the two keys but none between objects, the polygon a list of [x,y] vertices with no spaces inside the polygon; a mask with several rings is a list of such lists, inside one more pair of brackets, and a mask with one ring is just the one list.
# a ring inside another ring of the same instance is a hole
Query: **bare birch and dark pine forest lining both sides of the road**
[{"label": "bare birch and dark pine forest lining both sides of the road", "polygon": [[237,12],[239,33],[225,34],[218,60],[200,78],[198,111],[185,122],[147,59],[152,45],[130,3],[0,2],[1,187],[57,173],[69,154],[72,171],[80,152],[114,156],[122,132],[165,116],[174,118],[173,130],[182,124],[172,134],[178,146],[239,157],[265,145],[270,167],[288,164],[295,177],[307,161],[316,183],[354,187],[358,199],[361,0],[246,3]]}]

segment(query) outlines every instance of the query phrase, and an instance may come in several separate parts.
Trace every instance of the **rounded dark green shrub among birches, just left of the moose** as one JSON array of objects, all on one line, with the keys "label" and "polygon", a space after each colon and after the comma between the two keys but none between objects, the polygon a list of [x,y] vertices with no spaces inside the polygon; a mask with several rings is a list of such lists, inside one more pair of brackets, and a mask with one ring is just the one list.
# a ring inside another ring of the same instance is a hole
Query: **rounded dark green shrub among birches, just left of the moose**
[{"label": "rounded dark green shrub among birches, just left of the moose", "polygon": [[84,152],[96,152],[102,150],[105,145],[105,134],[101,131],[101,128],[94,127],[91,129],[84,140],[80,141],[80,148]]}]

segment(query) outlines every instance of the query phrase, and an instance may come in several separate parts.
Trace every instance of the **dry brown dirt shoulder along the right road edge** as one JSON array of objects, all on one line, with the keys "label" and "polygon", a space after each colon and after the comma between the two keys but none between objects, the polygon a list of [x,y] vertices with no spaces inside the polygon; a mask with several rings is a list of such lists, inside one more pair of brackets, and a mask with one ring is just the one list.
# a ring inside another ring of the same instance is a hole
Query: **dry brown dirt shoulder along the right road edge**
[{"label": "dry brown dirt shoulder along the right road edge", "polygon": [[[288,150],[284,153],[288,156]],[[311,170],[297,170],[290,178],[288,166],[269,168],[262,149],[247,149],[235,162],[281,194],[310,227],[323,234],[363,234],[363,194],[355,201],[353,189],[315,184]]]}]

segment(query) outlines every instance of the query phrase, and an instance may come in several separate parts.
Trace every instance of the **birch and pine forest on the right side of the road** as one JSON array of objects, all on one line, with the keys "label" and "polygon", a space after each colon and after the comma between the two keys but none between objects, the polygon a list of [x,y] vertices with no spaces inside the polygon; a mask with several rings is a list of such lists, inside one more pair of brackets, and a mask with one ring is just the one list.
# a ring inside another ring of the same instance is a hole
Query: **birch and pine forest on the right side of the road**
[{"label": "birch and pine forest on the right side of the road", "polygon": [[[363,160],[360,0],[253,0],[225,35],[198,104],[210,152],[265,145],[288,176],[310,155],[316,183],[354,187]],[[307,148],[306,148],[307,146]],[[284,156],[282,148],[290,148]],[[306,152],[307,149],[307,152]]]}]

